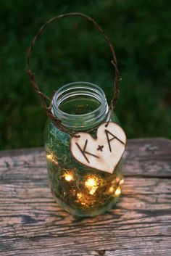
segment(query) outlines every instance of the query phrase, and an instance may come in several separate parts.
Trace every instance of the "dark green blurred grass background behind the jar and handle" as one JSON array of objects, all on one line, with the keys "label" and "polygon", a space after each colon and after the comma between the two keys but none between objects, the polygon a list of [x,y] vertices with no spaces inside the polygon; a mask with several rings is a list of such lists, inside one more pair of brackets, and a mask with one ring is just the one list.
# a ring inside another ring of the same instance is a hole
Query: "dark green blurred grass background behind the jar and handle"
[{"label": "dark green blurred grass background behind the jar and handle", "polygon": [[[46,20],[67,12],[95,19],[114,44],[120,69],[116,113],[128,138],[171,138],[171,1],[0,1],[0,149],[43,146],[46,114],[28,80],[25,58]],[[66,83],[88,81],[112,98],[112,57],[91,22],[68,17],[38,39],[31,67],[51,96]]]}]

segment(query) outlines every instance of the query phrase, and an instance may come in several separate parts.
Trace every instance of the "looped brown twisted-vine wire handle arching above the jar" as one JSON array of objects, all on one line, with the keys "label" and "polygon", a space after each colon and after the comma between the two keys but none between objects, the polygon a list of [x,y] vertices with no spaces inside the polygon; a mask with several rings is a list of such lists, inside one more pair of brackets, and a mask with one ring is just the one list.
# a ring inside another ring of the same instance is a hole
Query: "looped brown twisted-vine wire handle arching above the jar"
[{"label": "looped brown twisted-vine wire handle arching above the jar", "polygon": [[[41,36],[41,33],[43,33],[43,30],[45,30],[47,25],[49,25],[51,22],[54,22],[55,20],[59,20],[60,18],[69,17],[69,16],[81,16],[81,17],[85,17],[87,20],[91,21],[93,23],[93,25],[95,26],[96,30],[99,30],[99,32],[101,33],[101,36],[103,36],[104,39],[107,41],[107,44],[109,45],[109,48],[112,52],[112,61],[111,61],[111,63],[114,66],[115,78],[114,78],[114,83],[113,83],[114,96],[113,96],[112,101],[110,102],[110,105],[109,105],[110,113],[116,107],[117,99],[118,99],[119,94],[120,94],[120,90],[119,90],[120,77],[119,77],[119,70],[117,68],[117,58],[116,58],[116,55],[115,55],[115,52],[114,52],[114,47],[113,47],[111,41],[109,41],[109,38],[104,34],[104,31],[99,26],[99,24],[95,20],[93,20],[91,17],[89,17],[88,15],[84,15],[83,13],[79,13],[79,12],[71,12],[71,13],[67,13],[67,14],[64,14],[64,15],[58,15],[56,17],[53,17],[51,20],[48,20],[44,25],[41,26],[41,28],[38,30],[38,33],[33,38],[33,41],[30,44],[30,48],[28,49],[27,71],[28,71],[28,75],[29,75],[29,78],[30,78],[30,83],[33,85],[33,88],[35,89],[36,93],[41,97],[41,102],[42,102],[43,109],[46,111],[46,115],[48,115],[48,117],[50,117],[51,122],[54,123],[54,125],[57,126],[57,128],[59,128],[60,130],[70,134],[71,136],[74,136],[74,133],[72,133],[70,131],[67,131],[67,128],[65,128],[64,125],[62,125],[62,121],[57,119],[57,117],[51,112],[51,99],[49,99],[48,96],[46,96],[45,94],[43,94],[42,91],[40,91],[40,89],[38,87],[38,84],[36,83],[36,80],[35,80],[35,75],[33,74],[32,70],[30,69],[31,54],[32,54],[33,48],[36,44],[36,40],[38,39],[39,36]],[[47,105],[47,103],[46,103],[47,101],[49,101],[49,105]]]}]

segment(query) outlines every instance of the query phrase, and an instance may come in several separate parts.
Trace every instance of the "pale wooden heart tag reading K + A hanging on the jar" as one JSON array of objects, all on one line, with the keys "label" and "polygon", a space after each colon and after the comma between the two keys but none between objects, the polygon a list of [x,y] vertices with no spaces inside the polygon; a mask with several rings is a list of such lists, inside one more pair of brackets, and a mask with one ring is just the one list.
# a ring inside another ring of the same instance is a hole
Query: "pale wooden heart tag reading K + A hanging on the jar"
[{"label": "pale wooden heart tag reading K + A hanging on the jar", "polygon": [[76,161],[88,168],[113,173],[125,151],[126,136],[116,123],[103,123],[97,129],[96,139],[79,132],[70,140],[70,151]]}]

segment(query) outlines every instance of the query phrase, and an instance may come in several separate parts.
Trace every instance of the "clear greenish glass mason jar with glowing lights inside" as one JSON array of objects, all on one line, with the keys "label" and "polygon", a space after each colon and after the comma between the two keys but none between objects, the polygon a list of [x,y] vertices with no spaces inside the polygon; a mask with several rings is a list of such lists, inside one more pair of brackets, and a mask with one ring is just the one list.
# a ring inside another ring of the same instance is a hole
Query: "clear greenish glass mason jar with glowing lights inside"
[{"label": "clear greenish glass mason jar with glowing lights inside", "polygon": [[[90,131],[91,136],[96,136],[93,128],[107,121],[109,107],[99,86],[77,82],[54,94],[52,112],[68,131]],[[119,123],[114,112],[111,121]],[[45,149],[51,192],[57,203],[72,215],[99,215],[109,210],[120,196],[122,160],[112,174],[87,168],[72,157],[70,138],[48,120]]]}]

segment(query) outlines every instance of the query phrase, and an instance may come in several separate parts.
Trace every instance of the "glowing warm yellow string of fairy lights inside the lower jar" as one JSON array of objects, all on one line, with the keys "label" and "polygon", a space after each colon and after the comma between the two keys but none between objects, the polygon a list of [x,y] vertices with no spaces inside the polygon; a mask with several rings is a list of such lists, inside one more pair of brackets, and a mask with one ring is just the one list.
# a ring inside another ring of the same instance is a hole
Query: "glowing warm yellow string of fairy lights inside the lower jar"
[{"label": "glowing warm yellow string of fairy lights inside the lower jar", "polygon": [[[51,165],[59,165],[54,152],[48,152],[46,159]],[[51,172],[54,174],[54,181],[56,178],[59,181],[60,199],[63,199],[66,205],[72,205],[73,209],[85,212],[98,210],[108,199],[119,197],[120,187],[124,183],[120,174],[104,176],[101,173],[87,173],[85,176],[76,168],[52,168]],[[52,185],[56,186],[56,183]]]}]

